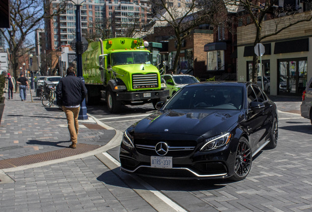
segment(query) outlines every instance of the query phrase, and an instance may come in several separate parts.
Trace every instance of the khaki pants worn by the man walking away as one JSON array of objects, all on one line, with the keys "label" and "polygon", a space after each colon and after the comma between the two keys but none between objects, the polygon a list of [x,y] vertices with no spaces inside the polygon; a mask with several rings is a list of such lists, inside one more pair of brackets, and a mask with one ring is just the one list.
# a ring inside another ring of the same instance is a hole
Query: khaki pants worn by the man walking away
[{"label": "khaki pants worn by the man walking away", "polygon": [[67,127],[69,133],[71,135],[71,141],[73,144],[77,143],[77,134],[78,134],[78,115],[79,115],[79,107],[65,107],[62,106],[63,111],[66,114],[67,118]]}]

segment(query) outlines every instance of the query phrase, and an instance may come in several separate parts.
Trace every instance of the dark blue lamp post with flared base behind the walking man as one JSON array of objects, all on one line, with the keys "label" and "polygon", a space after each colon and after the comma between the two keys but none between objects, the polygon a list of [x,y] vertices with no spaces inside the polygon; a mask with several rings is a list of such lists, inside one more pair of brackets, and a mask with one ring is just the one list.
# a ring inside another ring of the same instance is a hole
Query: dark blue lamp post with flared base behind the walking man
[{"label": "dark blue lamp post with flared base behind the walking man", "polygon": [[[82,76],[82,42],[81,42],[81,23],[80,23],[80,6],[85,2],[85,0],[71,0],[76,5],[76,56],[77,56],[77,77],[82,79],[84,83],[84,79]],[[78,119],[88,119],[87,115],[87,107],[85,105],[85,100],[80,105],[80,111],[78,115]]]}]

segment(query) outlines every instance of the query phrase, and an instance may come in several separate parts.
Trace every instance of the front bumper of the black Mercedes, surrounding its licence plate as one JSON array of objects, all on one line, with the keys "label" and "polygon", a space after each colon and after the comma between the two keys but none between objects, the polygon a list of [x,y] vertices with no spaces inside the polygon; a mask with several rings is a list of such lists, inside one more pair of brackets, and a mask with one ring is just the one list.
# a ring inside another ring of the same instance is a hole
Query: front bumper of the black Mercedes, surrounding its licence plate
[{"label": "front bumper of the black Mercedes, surrounding its licence plate", "polygon": [[199,151],[201,146],[202,144],[198,144],[190,151],[181,150],[180,154],[179,151],[168,153],[165,157],[172,157],[172,168],[155,168],[151,166],[151,157],[159,157],[155,150],[154,153],[152,150],[142,152],[136,145],[134,149],[130,149],[122,143],[121,170],[130,174],[173,179],[222,179],[234,174],[235,141],[207,152]]}]

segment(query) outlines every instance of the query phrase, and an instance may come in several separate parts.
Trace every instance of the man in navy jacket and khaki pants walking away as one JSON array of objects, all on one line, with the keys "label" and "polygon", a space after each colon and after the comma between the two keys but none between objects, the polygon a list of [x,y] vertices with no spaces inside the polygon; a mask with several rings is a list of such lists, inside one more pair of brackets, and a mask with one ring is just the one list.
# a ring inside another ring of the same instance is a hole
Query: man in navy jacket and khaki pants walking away
[{"label": "man in navy jacket and khaki pants walking away", "polygon": [[72,141],[69,147],[75,149],[78,142],[78,114],[87,89],[82,79],[76,77],[73,67],[67,69],[66,77],[58,82],[55,93],[57,105],[62,106],[66,114],[67,127]]}]

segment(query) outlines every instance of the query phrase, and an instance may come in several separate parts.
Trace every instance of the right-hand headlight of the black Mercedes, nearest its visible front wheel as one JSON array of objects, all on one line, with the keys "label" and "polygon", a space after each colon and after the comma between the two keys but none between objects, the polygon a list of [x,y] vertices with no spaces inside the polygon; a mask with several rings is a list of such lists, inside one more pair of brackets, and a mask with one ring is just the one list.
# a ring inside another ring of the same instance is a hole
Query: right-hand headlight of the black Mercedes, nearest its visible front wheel
[{"label": "right-hand headlight of the black Mercedes, nearest its visible front wheel", "polygon": [[230,132],[222,133],[205,140],[204,146],[200,149],[200,151],[209,151],[213,149],[217,149],[219,147],[225,146],[231,140],[232,134]]}]

